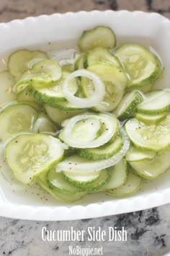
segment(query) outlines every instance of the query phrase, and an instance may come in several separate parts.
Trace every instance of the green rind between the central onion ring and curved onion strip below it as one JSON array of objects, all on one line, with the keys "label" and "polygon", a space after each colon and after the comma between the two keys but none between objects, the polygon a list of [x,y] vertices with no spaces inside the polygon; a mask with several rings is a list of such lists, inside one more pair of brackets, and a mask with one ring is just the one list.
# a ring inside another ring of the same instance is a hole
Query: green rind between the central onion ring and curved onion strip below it
[{"label": "green rind between the central onion ring and curved onion strip below it", "polygon": [[120,143],[115,151],[112,151],[108,154],[96,154],[91,149],[80,149],[77,151],[77,154],[89,160],[103,160],[113,156],[114,154],[117,154],[117,152],[120,151],[120,149],[122,148],[122,145],[123,141]]}]

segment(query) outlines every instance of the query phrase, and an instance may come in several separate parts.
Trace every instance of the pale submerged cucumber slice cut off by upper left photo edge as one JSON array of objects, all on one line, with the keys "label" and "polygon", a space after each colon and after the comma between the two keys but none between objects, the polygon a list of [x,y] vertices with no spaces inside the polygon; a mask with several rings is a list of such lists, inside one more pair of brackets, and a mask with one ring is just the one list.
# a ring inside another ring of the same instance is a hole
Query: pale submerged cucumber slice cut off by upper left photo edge
[{"label": "pale submerged cucumber slice cut off by upper left photo edge", "polygon": [[12,102],[16,100],[16,95],[12,92],[14,86],[14,79],[8,71],[0,72],[1,94],[0,105]]}]

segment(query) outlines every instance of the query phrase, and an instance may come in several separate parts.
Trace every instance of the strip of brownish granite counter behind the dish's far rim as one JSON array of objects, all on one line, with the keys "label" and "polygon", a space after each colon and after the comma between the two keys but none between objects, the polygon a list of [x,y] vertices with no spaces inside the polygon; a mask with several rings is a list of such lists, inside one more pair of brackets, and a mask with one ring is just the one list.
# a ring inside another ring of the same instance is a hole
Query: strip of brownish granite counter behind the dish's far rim
[{"label": "strip of brownish granite counter behind the dish's far rim", "polygon": [[170,18],[169,0],[1,0],[0,22],[40,14],[94,9],[159,12]]}]

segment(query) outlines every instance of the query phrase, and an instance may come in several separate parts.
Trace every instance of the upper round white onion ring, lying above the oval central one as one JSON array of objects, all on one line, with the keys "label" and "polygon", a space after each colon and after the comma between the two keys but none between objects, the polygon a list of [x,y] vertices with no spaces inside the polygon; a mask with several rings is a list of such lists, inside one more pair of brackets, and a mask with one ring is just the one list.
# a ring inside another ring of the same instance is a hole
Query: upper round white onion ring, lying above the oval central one
[{"label": "upper round white onion ring, lying above the oval central one", "polygon": [[[69,90],[69,83],[72,79],[78,76],[85,76],[91,79],[94,83],[94,93],[87,98],[79,98],[74,96],[74,94]],[[105,87],[103,81],[99,78],[99,76],[95,75],[91,71],[87,71],[86,69],[79,69],[74,71],[69,76],[66,77],[66,80],[63,82],[63,94],[72,105],[77,107],[94,107],[99,102],[102,102],[104,98]]]}]

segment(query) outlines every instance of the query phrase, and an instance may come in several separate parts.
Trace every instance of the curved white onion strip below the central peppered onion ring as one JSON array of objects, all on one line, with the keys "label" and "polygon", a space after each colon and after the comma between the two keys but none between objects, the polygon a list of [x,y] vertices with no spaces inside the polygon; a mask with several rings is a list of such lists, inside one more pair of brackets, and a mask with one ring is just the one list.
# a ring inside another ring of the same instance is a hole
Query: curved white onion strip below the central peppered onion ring
[{"label": "curved white onion strip below the central peppered onion ring", "polygon": [[128,136],[126,135],[125,131],[121,130],[122,138],[124,141],[124,144],[122,146],[122,149],[115,154],[114,156],[109,157],[108,159],[100,160],[100,161],[89,161],[84,163],[77,163],[77,162],[71,162],[70,160],[65,160],[63,162],[60,162],[56,165],[56,172],[73,172],[73,173],[90,173],[90,172],[97,172],[101,169],[106,169],[108,167],[111,167],[122,159],[123,156],[125,156],[126,152],[129,149],[130,141],[128,139]]}]

